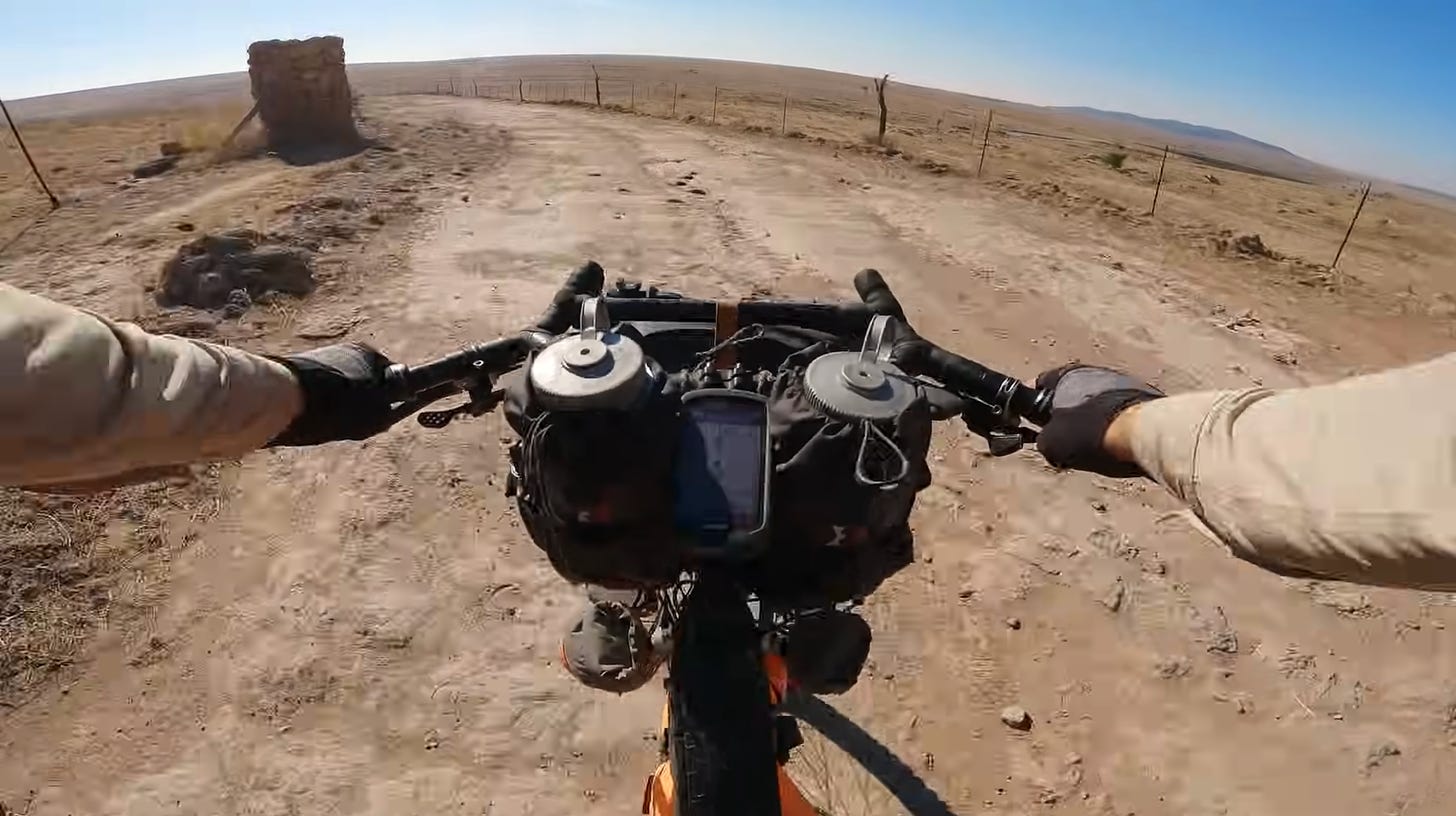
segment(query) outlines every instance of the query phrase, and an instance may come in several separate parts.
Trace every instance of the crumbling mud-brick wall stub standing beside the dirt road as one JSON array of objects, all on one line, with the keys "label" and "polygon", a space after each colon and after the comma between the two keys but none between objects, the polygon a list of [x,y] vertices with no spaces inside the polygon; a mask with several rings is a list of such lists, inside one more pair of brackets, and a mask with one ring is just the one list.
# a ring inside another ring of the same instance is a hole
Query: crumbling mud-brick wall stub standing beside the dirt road
[{"label": "crumbling mud-brick wall stub standing beside the dirt road", "polygon": [[248,76],[274,150],[358,141],[342,38],[253,42]]}]

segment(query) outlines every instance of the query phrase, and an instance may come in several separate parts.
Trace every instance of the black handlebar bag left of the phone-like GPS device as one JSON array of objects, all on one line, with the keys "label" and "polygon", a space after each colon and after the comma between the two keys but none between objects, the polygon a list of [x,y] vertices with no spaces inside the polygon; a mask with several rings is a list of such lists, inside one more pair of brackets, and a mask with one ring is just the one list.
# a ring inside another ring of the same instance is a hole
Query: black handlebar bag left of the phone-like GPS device
[{"label": "black handlebar bag left of the phone-like GPS device", "polygon": [[547,411],[529,376],[505,389],[505,418],[520,437],[510,450],[515,504],[569,581],[651,589],[681,573],[673,530],[680,399],[658,380],[630,411]]}]

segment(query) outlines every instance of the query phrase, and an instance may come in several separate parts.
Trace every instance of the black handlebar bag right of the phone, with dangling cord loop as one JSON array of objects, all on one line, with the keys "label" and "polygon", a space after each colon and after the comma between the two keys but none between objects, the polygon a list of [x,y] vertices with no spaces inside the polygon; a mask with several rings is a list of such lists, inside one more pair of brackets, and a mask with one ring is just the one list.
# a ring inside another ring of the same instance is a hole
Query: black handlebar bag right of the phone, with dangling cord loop
[{"label": "black handlebar bag right of the phone, with dangling cord loop", "polygon": [[[856,476],[863,421],[827,414],[804,389],[804,370],[833,351],[815,344],[779,367],[769,398],[773,442],[772,542],[748,567],[764,599],[799,608],[863,597],[914,558],[910,509],[930,485],[930,405],[922,393],[875,430],[904,456],[904,475],[868,485]],[[871,446],[884,444],[875,436]]]}]

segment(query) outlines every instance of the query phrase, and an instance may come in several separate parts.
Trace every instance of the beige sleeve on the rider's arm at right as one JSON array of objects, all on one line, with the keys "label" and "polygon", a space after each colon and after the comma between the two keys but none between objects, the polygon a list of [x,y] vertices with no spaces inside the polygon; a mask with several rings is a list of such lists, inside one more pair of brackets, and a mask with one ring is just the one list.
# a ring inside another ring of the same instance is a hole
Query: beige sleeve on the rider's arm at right
[{"label": "beige sleeve on the rider's arm at right", "polygon": [[1456,590],[1456,354],[1316,388],[1169,396],[1133,420],[1139,465],[1239,558]]}]

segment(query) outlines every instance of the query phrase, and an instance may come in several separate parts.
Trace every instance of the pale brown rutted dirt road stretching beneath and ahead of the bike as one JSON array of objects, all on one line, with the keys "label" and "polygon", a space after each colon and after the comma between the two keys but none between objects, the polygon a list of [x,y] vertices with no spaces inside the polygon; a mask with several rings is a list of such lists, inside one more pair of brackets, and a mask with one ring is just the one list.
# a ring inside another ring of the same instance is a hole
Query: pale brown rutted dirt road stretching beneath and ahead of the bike
[{"label": "pale brown rutted dirt road stretching beneath and ahead of the bike", "polygon": [[[964,181],[566,108],[379,115],[510,136],[397,262],[309,306],[357,315],[352,337],[402,360],[520,325],[596,258],[697,296],[844,297],[874,265],[923,332],[1028,376],[1073,357],[1174,389],[1332,373],[1273,361],[1306,338],[1223,328],[1198,280],[1095,221]],[[146,632],[99,640],[74,682],[0,713],[0,801],[635,813],[661,694],[591,692],[558,667],[578,593],[501,495],[507,433],[408,424],[248,459]],[[1275,578],[1153,487],[936,439],[920,558],[869,600],[871,667],[831,701],[888,749],[872,769],[893,784],[812,737],[795,772],[828,812],[1449,810],[1447,596]],[[1006,705],[1034,727],[1005,729]]]}]

